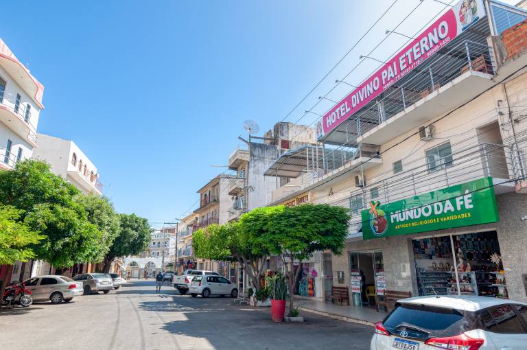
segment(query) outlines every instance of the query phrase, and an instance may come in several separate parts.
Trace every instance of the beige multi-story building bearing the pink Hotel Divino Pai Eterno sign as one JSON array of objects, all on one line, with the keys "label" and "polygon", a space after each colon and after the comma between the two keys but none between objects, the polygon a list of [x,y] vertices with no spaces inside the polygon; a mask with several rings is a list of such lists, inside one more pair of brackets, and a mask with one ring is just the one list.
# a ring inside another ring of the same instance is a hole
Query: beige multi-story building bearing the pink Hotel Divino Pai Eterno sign
[{"label": "beige multi-story building bearing the pink Hotel Divino Pai Eterno sign", "polygon": [[386,290],[527,301],[527,12],[471,4],[324,113],[316,147],[270,168],[296,186],[271,204],[351,211],[344,253],[314,268],[329,277],[315,297],[337,285],[353,305]]}]

